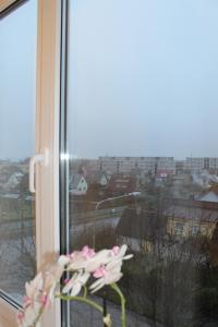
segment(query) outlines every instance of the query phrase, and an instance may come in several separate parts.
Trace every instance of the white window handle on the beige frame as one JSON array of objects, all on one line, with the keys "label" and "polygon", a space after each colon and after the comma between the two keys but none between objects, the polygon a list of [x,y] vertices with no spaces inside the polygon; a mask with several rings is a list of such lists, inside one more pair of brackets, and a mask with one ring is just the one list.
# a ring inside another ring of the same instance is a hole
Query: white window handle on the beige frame
[{"label": "white window handle on the beige frame", "polygon": [[41,154],[37,154],[33,156],[29,160],[29,179],[28,179],[28,187],[31,193],[36,193],[35,189],[35,166],[37,162],[41,162],[44,166],[48,166],[49,162],[49,152],[48,149],[44,149]]}]

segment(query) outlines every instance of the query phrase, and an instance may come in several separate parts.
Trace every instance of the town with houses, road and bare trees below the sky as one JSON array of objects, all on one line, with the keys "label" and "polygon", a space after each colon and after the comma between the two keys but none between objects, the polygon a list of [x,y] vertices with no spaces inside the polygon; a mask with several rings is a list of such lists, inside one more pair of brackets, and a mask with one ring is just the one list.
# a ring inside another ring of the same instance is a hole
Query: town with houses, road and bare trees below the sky
[{"label": "town with houses, road and bare trees below the sky", "polygon": [[[36,269],[34,205],[28,158],[1,160],[1,275],[14,261],[21,266],[16,282],[3,279],[1,288],[16,299]],[[218,158],[73,159],[69,206],[71,249],[125,243],[134,253],[121,281],[133,324],[217,326]],[[108,305],[118,314],[111,296]],[[204,320],[211,325],[199,325]],[[75,314],[73,323],[78,324]]]}]

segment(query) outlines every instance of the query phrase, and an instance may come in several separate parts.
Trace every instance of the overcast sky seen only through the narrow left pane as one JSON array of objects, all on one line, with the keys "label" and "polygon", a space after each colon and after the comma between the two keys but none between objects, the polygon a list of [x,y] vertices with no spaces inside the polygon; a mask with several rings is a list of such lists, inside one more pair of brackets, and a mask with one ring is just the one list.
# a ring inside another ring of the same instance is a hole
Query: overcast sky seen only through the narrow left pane
[{"label": "overcast sky seen only through the narrow left pane", "polygon": [[34,154],[36,0],[0,21],[0,158]]}]

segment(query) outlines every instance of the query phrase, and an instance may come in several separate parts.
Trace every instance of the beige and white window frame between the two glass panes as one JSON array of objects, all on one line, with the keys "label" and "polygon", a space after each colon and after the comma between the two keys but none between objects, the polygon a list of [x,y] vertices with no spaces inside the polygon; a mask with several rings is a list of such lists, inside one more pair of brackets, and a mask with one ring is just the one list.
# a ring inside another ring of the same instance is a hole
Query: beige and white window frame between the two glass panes
[{"label": "beige and white window frame between the two glass panes", "polygon": [[[11,5],[0,0],[0,12]],[[25,3],[24,3],[25,5]],[[61,1],[38,0],[36,77],[36,148],[49,150],[49,165],[36,167],[36,261],[37,269],[45,259],[52,261],[60,249],[59,230],[59,108]],[[16,326],[16,308],[0,299],[0,327]],[[60,303],[49,310],[40,327],[60,327]]]}]

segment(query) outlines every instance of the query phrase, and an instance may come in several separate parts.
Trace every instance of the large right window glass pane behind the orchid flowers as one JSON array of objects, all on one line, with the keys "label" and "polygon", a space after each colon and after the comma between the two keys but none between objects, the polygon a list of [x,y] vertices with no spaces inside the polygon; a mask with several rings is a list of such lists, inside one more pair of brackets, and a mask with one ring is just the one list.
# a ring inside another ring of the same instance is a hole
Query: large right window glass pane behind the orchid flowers
[{"label": "large right window glass pane behind the orchid flowers", "polygon": [[[218,325],[217,15],[214,0],[70,1],[70,246],[129,245],[128,326]],[[121,326],[110,292],[107,310]]]}]

